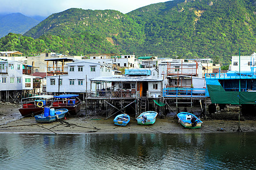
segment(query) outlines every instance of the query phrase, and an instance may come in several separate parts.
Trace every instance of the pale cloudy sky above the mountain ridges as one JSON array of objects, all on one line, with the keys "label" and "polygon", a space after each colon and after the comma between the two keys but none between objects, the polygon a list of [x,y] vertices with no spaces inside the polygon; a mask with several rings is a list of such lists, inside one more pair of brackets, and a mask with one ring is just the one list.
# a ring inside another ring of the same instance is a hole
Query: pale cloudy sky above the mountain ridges
[{"label": "pale cloudy sky above the mountain ridges", "polygon": [[170,0],[0,0],[0,12],[49,16],[69,8],[82,8],[84,10],[117,10],[126,14],[152,3],[167,1]]}]

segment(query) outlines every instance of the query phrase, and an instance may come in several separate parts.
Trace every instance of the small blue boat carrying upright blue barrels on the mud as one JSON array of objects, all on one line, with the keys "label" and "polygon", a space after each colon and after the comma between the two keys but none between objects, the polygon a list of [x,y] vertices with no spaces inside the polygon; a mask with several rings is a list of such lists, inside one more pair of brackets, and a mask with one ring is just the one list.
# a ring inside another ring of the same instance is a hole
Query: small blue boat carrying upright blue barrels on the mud
[{"label": "small blue boat carrying upright blue barrels on the mud", "polygon": [[[45,110],[46,111],[46,110]],[[61,118],[65,117],[65,114],[68,112],[68,109],[57,109],[54,111],[53,114],[40,114],[35,116],[35,120],[38,123],[48,123],[48,122],[53,122],[56,120],[59,120]]]}]

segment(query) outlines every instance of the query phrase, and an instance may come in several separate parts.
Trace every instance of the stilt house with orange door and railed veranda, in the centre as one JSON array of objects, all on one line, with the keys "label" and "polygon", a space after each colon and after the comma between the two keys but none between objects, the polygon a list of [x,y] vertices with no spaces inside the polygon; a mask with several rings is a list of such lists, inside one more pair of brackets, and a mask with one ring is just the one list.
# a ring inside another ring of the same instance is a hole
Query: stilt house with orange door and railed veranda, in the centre
[{"label": "stilt house with orange door and railed veranda, in the centre", "polygon": [[[162,92],[162,77],[156,69],[127,69],[125,76],[98,77],[91,80],[92,84],[111,82],[107,90],[97,88],[93,97],[135,98],[159,97]],[[106,94],[106,95],[105,95]]]}]

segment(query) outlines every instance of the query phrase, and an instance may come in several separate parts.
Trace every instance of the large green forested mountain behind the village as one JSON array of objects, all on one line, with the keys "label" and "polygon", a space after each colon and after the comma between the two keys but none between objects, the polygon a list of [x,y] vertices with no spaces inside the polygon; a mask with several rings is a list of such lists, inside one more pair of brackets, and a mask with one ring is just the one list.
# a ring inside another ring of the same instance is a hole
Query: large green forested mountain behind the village
[{"label": "large green forested mountain behind the village", "polygon": [[[71,8],[48,16],[24,36],[45,42],[49,51],[71,55],[115,52],[210,57],[214,63],[228,65],[239,48],[246,56],[256,51],[255,8],[255,0],[174,0],[127,14]],[[10,44],[3,46],[11,48]],[[25,50],[30,53],[30,49]]]}]

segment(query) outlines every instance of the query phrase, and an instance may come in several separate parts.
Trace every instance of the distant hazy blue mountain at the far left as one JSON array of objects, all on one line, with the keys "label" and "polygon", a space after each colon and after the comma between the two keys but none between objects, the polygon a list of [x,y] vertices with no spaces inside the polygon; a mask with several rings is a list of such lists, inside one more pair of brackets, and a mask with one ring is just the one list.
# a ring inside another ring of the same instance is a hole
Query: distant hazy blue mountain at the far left
[{"label": "distant hazy blue mountain at the far left", "polygon": [[2,25],[0,29],[0,37],[3,37],[9,32],[23,34],[37,25],[39,21],[20,13],[13,13],[2,15],[0,17],[0,23]]}]

